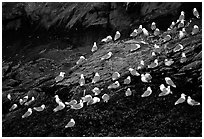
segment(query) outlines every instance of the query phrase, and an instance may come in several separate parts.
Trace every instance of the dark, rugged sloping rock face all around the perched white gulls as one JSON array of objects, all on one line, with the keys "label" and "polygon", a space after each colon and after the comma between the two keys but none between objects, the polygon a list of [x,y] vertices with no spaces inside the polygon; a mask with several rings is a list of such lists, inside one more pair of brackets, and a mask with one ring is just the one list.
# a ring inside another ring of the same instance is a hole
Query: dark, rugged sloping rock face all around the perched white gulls
[{"label": "dark, rugged sloping rock face all around the perched white gulls", "polygon": [[[202,104],[202,18],[195,19],[192,16],[194,6],[199,9],[201,3],[3,3],[5,49],[2,62],[2,135],[202,136],[201,105],[190,106],[186,102],[174,105],[181,93]],[[15,10],[11,12],[13,8]],[[185,38],[178,38],[179,29],[173,32],[162,31],[163,35],[159,38],[127,37],[139,24],[144,24],[149,30],[153,19],[159,28],[166,29],[172,21],[176,21],[182,9],[186,13],[186,22],[192,20],[185,27]],[[163,20],[161,17],[176,14],[178,16],[169,18],[168,23],[159,22]],[[197,35],[191,35],[195,24],[200,31]],[[10,38],[7,35],[13,33],[13,29],[16,29],[16,36],[19,33],[27,36],[19,36],[8,42]],[[99,43],[104,36],[113,36],[116,30],[122,34],[119,41]],[[172,40],[162,42],[161,38],[165,34],[171,34]],[[95,53],[90,51],[93,41],[99,47]],[[76,42],[83,42],[83,46],[76,47]],[[140,44],[141,48],[131,52],[130,47],[135,44]],[[160,53],[152,56],[155,44],[160,46]],[[182,44],[184,49],[173,52],[178,44]],[[12,49],[15,50],[13,54],[7,54]],[[108,52],[113,53],[112,57],[101,60]],[[186,60],[181,62],[183,52]],[[10,62],[4,59],[5,55],[12,56],[8,59]],[[81,55],[87,60],[76,65]],[[166,58],[172,58],[174,63],[166,66]],[[158,59],[158,66],[149,69],[148,65],[155,59]],[[132,76],[128,71],[129,67],[136,69],[141,60],[144,60],[145,65],[138,72],[150,73],[150,83],[142,82],[140,76]],[[62,71],[65,72],[65,78],[56,83],[55,77]],[[115,71],[121,74],[118,79],[120,87],[108,89],[113,83],[111,76]],[[101,79],[92,84],[95,72],[100,74]],[[84,74],[86,82],[82,87],[79,85],[80,74]],[[131,76],[129,85],[124,84],[127,76]],[[173,94],[159,97],[159,86],[165,84],[165,77],[170,77],[176,88],[171,88]],[[149,86],[152,94],[142,98],[141,95]],[[79,102],[84,90],[86,95],[94,96],[94,87],[103,89],[99,98],[105,93],[110,96],[108,103],[101,100],[90,106],[84,104],[79,110],[66,106],[61,111],[53,112],[57,106],[55,95],[62,102],[73,99]],[[129,97],[125,96],[127,88],[133,92]],[[7,98],[8,94],[11,94],[11,100]],[[19,99],[26,95],[29,100],[31,97],[35,97],[35,100],[28,106],[20,105]],[[10,112],[9,108],[13,104],[18,107]],[[28,108],[42,104],[46,106],[44,111],[33,110],[31,116],[21,118]],[[75,120],[75,126],[65,128],[71,118]]]}]

